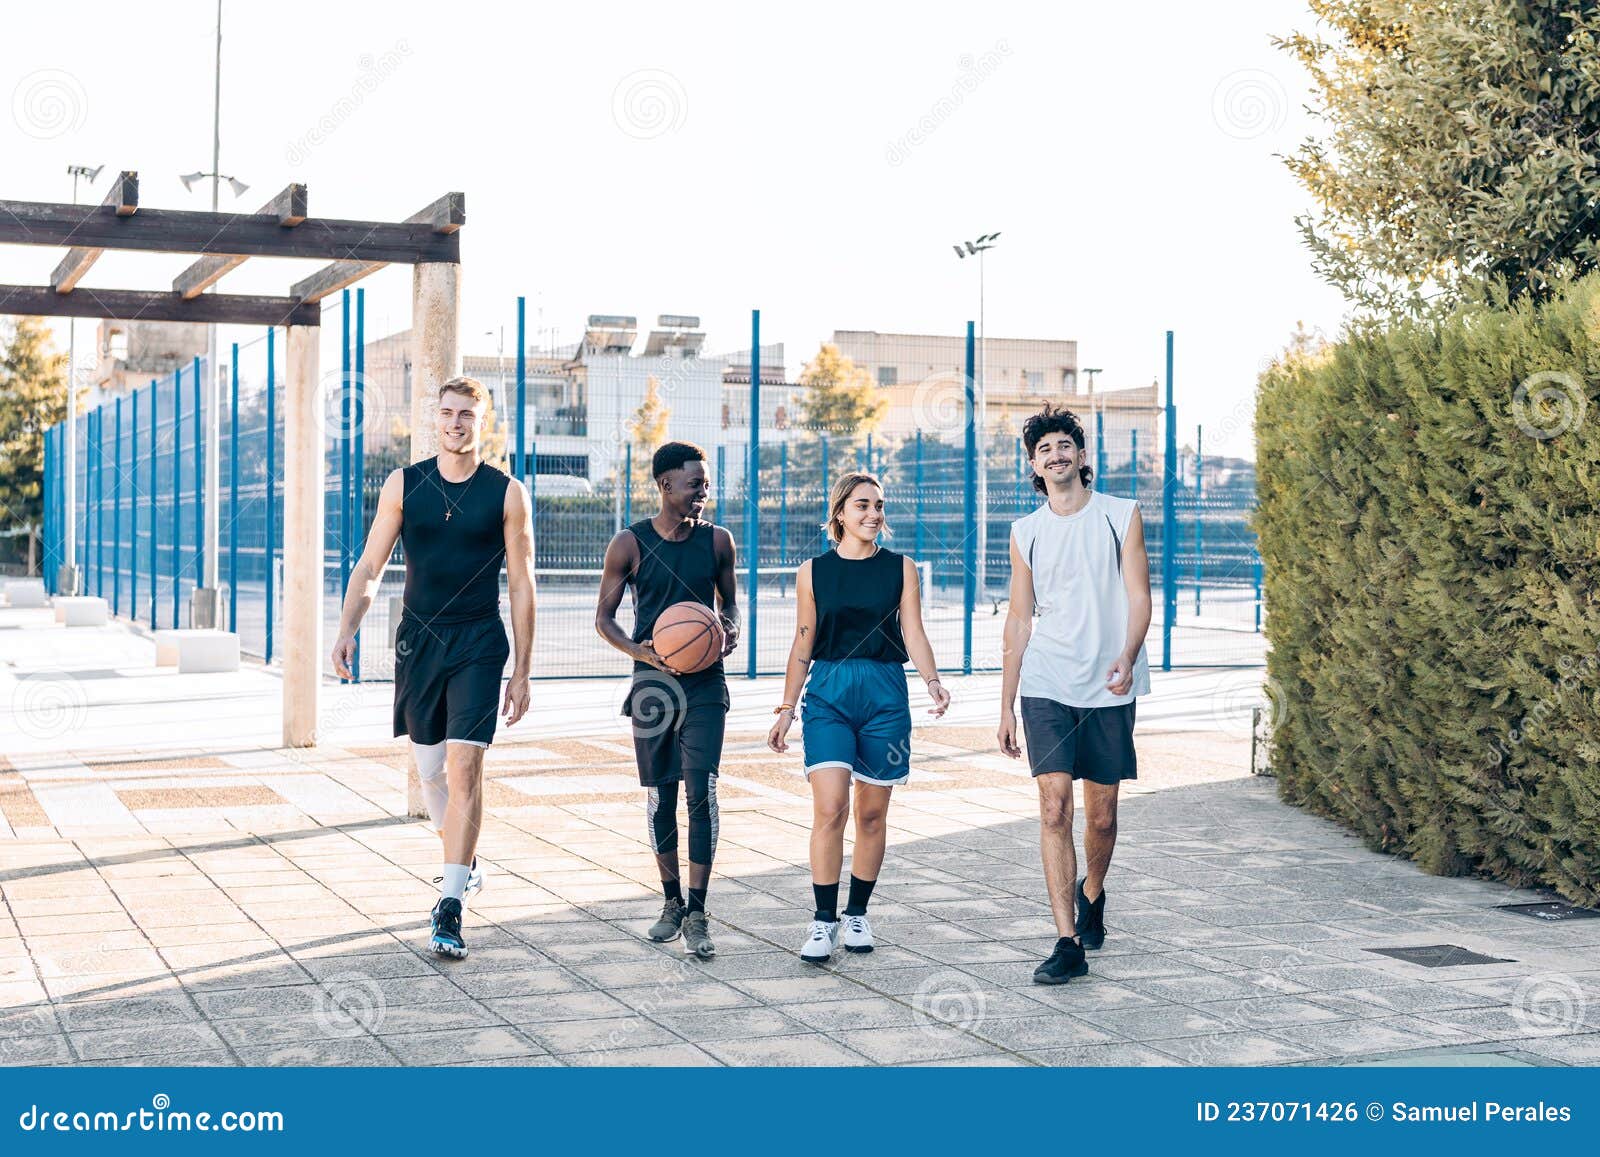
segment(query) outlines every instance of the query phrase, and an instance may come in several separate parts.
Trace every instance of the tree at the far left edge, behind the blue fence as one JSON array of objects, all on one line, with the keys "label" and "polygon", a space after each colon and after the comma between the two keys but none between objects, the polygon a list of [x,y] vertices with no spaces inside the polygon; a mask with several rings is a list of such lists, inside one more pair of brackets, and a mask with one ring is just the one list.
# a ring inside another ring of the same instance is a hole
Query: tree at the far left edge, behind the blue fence
[{"label": "tree at the far left edge, behind the blue fence", "polygon": [[21,317],[0,355],[0,525],[45,517],[45,430],[67,414],[67,355],[37,317]]}]

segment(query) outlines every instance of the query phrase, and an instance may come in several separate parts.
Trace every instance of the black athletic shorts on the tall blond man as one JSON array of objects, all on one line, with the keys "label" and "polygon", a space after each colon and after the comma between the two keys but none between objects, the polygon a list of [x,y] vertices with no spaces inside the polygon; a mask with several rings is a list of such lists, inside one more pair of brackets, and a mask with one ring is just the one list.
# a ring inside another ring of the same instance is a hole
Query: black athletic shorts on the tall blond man
[{"label": "black athletic shorts on the tall blond man", "polygon": [[395,631],[395,735],[488,746],[499,722],[510,642],[499,616],[470,623],[402,618]]}]

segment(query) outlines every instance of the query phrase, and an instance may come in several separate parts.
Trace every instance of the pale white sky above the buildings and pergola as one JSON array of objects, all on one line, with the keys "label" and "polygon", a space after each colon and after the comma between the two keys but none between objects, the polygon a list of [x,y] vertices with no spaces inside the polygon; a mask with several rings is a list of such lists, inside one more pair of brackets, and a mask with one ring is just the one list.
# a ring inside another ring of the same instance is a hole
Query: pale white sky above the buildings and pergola
[{"label": "pale white sky above the buildings and pergola", "polygon": [[[210,208],[178,174],[211,162],[213,22],[208,0],[13,6],[0,197],[67,200],[66,166],[104,163],[139,170],[144,205]],[[950,245],[1000,230],[990,336],[1075,339],[1115,389],[1158,376],[1174,330],[1181,442],[1203,422],[1208,453],[1250,454],[1262,360],[1346,312],[1275,157],[1312,122],[1269,37],[1312,26],[1298,0],[224,0],[221,170],[251,187],[222,206],[302,181],[314,214],[402,219],[462,190],[464,352],[502,325],[510,350],[517,294],[563,338],[592,312],[699,314],[710,352],[747,346],[760,307],[790,374],[835,328],[960,333],[978,270]],[[0,282],[59,258],[0,248]],[[107,256],[85,285],[186,264]],[[250,261],[222,288],[314,267]],[[408,270],[365,285],[368,338],[408,325]]]}]

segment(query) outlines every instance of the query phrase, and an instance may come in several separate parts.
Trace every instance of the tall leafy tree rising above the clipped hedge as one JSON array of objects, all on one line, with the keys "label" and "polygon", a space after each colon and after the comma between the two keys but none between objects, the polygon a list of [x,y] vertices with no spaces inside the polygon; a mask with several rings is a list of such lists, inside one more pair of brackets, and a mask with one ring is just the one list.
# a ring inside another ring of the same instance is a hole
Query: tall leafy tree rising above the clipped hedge
[{"label": "tall leafy tree rising above the clipped hedge", "polygon": [[1312,264],[1374,314],[1496,283],[1534,299],[1600,258],[1600,5],[1309,0],[1274,43],[1310,72],[1325,138],[1285,158],[1317,202]]}]

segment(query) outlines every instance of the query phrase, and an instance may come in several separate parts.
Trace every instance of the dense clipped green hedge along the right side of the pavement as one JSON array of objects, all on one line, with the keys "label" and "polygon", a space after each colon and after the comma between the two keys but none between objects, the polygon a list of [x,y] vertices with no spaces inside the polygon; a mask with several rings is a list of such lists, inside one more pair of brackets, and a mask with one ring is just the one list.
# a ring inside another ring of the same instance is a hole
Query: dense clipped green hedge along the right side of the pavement
[{"label": "dense clipped green hedge along the right side of the pavement", "polygon": [[1285,800],[1600,903],[1600,280],[1290,354],[1256,405]]}]

